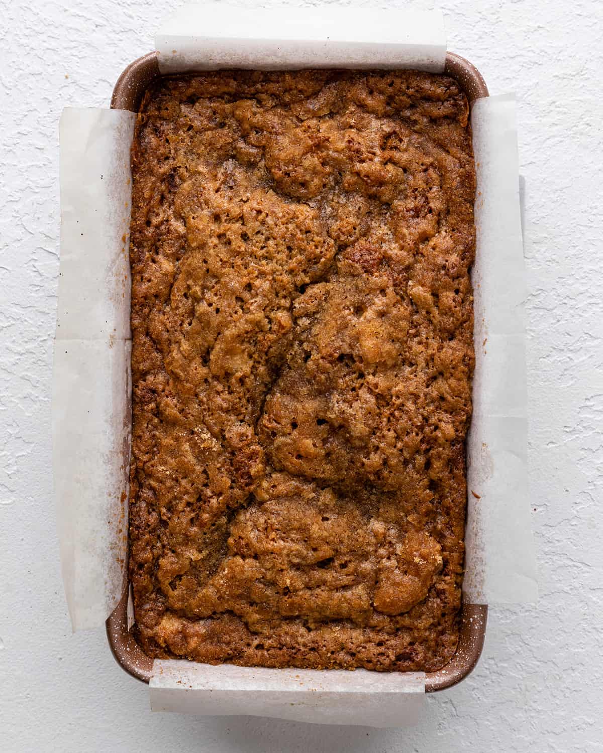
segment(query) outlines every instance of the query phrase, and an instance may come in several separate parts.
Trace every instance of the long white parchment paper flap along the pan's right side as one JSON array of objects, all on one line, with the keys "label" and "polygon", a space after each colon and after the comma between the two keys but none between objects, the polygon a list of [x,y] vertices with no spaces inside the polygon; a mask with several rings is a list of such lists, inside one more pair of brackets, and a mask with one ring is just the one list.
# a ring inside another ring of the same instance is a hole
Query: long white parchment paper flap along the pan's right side
[{"label": "long white parchment paper flap along the pan's right side", "polygon": [[476,370],[467,441],[464,598],[474,604],[522,604],[537,598],[537,580],[528,493],[515,97],[479,99],[471,123],[478,191],[472,273]]}]

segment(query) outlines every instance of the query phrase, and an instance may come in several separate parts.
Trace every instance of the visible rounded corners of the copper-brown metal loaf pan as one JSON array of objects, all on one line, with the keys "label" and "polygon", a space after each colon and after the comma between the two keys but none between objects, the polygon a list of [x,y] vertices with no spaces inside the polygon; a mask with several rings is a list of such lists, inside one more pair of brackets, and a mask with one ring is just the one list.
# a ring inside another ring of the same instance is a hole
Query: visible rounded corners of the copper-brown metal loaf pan
[{"label": "visible rounded corners of the copper-brown metal loaf pan", "polygon": [[[488,88],[482,75],[475,66],[461,56],[450,52],[446,54],[445,73],[458,81],[467,95],[470,106],[474,100],[488,96]],[[115,84],[111,107],[138,112],[142,96],[152,81],[159,76],[161,73],[156,53],[148,53],[134,60]],[[442,669],[426,673],[426,693],[443,691],[469,675],[482,653],[487,617],[487,605],[463,603],[461,633],[456,653]],[[153,660],[142,652],[129,632],[127,622],[126,590],[106,623],[109,646],[115,660],[126,672],[148,683],[151,678]]]}]

